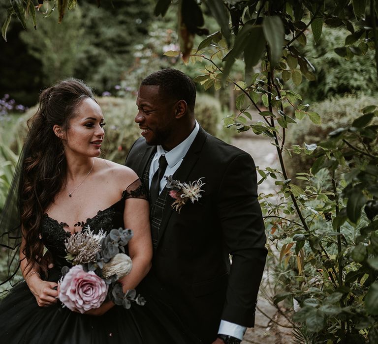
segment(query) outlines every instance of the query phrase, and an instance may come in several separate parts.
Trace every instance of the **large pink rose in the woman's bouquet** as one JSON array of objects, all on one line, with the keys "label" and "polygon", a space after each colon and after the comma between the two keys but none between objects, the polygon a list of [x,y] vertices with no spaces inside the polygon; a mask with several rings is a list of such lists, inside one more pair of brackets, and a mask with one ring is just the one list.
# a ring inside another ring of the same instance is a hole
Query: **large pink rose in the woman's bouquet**
[{"label": "large pink rose in the woman's bouquet", "polygon": [[69,269],[61,284],[59,299],[71,311],[85,313],[98,308],[108,293],[105,281],[93,271],[85,272],[81,265]]}]

